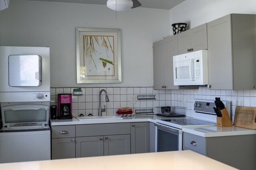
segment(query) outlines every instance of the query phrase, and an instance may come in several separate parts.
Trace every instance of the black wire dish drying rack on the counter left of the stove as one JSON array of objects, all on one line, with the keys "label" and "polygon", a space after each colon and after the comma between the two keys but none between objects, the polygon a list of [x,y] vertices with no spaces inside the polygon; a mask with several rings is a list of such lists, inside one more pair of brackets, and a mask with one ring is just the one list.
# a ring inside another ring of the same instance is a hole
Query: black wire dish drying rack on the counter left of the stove
[{"label": "black wire dish drying rack on the counter left of the stove", "polygon": [[178,117],[185,116],[186,107],[179,106],[165,106],[165,107],[156,107],[157,114],[165,117]]}]

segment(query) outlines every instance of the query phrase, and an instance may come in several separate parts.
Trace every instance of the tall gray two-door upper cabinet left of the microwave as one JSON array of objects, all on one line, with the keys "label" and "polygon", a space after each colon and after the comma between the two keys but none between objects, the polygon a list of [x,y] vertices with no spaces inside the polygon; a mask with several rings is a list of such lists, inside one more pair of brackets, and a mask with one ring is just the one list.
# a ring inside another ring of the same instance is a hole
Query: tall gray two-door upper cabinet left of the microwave
[{"label": "tall gray two-door upper cabinet left of the microwave", "polygon": [[154,89],[178,89],[173,82],[173,59],[178,55],[177,35],[153,43]]}]

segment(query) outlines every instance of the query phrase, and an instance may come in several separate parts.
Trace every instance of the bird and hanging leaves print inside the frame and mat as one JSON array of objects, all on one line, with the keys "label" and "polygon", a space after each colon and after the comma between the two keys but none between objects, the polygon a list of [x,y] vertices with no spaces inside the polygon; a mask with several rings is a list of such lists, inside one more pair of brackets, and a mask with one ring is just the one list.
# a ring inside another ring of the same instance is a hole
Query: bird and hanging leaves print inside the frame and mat
[{"label": "bird and hanging leaves print inside the frame and mat", "polygon": [[83,77],[114,76],[114,36],[83,35]]}]

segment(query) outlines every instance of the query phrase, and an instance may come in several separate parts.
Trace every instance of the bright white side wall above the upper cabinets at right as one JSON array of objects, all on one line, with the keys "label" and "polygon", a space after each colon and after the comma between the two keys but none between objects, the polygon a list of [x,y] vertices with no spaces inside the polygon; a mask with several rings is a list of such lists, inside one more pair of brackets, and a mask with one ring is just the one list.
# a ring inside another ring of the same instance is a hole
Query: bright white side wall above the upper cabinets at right
[{"label": "bright white side wall above the upper cabinets at right", "polygon": [[190,29],[232,13],[256,14],[256,0],[186,0],[170,10],[170,23]]}]

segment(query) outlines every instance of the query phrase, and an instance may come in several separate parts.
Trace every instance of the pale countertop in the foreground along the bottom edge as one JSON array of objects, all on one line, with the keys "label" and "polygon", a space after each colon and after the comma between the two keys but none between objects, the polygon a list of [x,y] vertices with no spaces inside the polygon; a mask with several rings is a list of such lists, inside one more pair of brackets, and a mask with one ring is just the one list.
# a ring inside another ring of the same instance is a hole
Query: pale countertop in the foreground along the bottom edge
[{"label": "pale countertop in the foreground along the bottom edge", "polygon": [[1,170],[235,170],[190,150],[0,164]]}]

